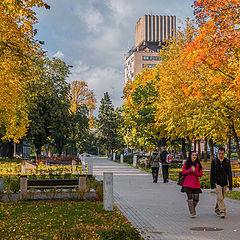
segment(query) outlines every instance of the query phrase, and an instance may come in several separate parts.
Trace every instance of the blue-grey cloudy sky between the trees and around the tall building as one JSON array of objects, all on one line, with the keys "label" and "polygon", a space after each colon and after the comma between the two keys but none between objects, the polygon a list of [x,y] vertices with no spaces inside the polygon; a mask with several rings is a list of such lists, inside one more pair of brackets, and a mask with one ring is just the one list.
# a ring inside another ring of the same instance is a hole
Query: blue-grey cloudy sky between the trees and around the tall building
[{"label": "blue-grey cloudy sky between the trees and around the tall building", "polygon": [[193,18],[193,0],[46,0],[37,10],[38,40],[49,57],[72,65],[68,81],[86,81],[99,101],[108,91],[121,106],[124,54],[134,46],[135,24],[144,14]]}]

